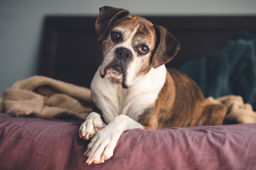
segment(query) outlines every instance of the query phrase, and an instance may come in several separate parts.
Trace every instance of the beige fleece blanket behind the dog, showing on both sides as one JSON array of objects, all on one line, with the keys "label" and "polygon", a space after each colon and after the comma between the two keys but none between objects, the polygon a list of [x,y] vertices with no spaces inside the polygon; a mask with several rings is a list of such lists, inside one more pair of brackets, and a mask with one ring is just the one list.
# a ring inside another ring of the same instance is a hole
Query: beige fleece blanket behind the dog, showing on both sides
[{"label": "beige fleece blanket behind the dog, showing on both sides", "polygon": [[[2,101],[1,101],[2,100]],[[4,91],[0,112],[13,117],[72,117],[85,120],[92,112],[90,89],[44,76],[16,82]],[[210,103],[222,103],[226,118],[234,123],[256,123],[256,113],[241,96],[209,97]]]}]

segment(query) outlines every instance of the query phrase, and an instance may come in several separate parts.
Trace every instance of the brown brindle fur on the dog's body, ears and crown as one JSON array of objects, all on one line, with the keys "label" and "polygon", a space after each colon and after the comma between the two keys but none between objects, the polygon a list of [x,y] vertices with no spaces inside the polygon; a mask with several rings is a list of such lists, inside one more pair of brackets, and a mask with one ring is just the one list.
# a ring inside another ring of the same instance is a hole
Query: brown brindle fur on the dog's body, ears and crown
[{"label": "brown brindle fur on the dog's body, ears and crown", "polygon": [[[108,53],[105,46],[110,46],[109,37],[111,28],[116,25],[128,25],[134,29],[134,25],[143,23],[137,30],[137,34],[147,36],[151,40],[153,53],[148,58],[148,65],[141,67],[137,76],[145,74],[153,66],[157,68],[170,60],[180,49],[178,40],[168,30],[161,26],[153,25],[148,20],[131,16],[124,9],[113,7],[100,8],[100,14],[95,27],[98,40],[103,39],[103,53]],[[147,29],[144,29],[147,27]],[[147,32],[145,32],[147,30]],[[157,48],[161,46],[161,48]],[[100,113],[94,105],[93,110]],[[154,104],[151,104],[139,116],[138,122],[145,129],[160,129],[167,127],[189,127],[196,125],[220,125],[226,114],[226,107],[222,104],[212,104],[205,101],[197,84],[187,75],[175,69],[169,69],[166,74],[166,82],[160,91]]]}]

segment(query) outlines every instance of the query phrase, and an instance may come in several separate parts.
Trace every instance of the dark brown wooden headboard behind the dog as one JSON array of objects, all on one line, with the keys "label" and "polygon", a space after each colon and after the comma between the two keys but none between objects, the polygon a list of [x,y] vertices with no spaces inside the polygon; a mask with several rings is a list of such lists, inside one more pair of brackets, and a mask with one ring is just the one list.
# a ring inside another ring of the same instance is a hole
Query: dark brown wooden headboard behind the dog
[{"label": "dark brown wooden headboard behind the dog", "polygon": [[[256,17],[144,17],[168,29],[180,41],[180,51],[166,64],[179,68],[228,43],[237,30],[256,34]],[[96,17],[48,16],[44,20],[39,75],[90,88],[101,62]]]}]

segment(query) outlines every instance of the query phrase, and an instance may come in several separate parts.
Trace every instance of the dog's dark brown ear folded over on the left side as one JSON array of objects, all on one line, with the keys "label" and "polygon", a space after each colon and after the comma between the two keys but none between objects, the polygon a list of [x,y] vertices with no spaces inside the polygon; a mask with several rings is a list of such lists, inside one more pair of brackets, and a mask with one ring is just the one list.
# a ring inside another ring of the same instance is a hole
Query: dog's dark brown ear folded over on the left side
[{"label": "dog's dark brown ear folded over on the left side", "polygon": [[123,18],[127,15],[130,15],[130,12],[124,9],[114,8],[110,6],[103,6],[100,8],[100,13],[95,23],[95,29],[98,36],[98,40],[103,39],[107,29],[113,25],[113,23]]}]

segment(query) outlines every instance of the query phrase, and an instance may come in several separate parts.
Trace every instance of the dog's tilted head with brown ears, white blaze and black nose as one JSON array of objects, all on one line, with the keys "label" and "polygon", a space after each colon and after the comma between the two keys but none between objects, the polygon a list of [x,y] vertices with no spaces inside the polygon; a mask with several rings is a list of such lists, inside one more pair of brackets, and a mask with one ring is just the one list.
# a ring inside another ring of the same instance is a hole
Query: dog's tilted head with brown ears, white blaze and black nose
[{"label": "dog's tilted head with brown ears, white blaze and black nose", "polygon": [[103,40],[100,75],[124,89],[152,67],[172,60],[180,49],[168,30],[124,9],[101,7],[95,28],[98,40]]}]

